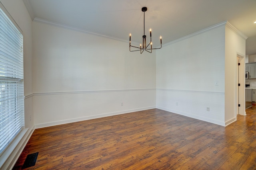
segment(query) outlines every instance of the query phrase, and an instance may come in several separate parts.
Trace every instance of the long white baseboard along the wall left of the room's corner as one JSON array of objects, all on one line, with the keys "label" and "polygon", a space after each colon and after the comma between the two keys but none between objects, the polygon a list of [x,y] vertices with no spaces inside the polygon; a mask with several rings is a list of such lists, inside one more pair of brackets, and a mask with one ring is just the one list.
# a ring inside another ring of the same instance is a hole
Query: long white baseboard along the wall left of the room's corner
[{"label": "long white baseboard along the wall left of the room's corner", "polygon": [[142,110],[155,109],[155,108],[156,108],[156,106],[141,107],[141,108],[137,108],[137,109],[129,109],[129,110],[116,111],[116,112],[111,112],[111,113],[103,113],[103,114],[79,117],[79,118],[74,118],[74,119],[66,119],[66,120],[62,120],[62,121],[52,121],[52,122],[48,122],[48,123],[37,124],[37,125],[35,125],[35,127],[36,127],[36,129],[39,129],[39,128],[43,128],[43,127],[62,125],[62,124],[66,124],[66,123],[85,121],[85,120],[89,120],[89,119],[96,119],[96,118],[101,118],[101,117],[120,115],[120,114],[130,113],[130,112],[134,112],[134,111],[142,111]]}]

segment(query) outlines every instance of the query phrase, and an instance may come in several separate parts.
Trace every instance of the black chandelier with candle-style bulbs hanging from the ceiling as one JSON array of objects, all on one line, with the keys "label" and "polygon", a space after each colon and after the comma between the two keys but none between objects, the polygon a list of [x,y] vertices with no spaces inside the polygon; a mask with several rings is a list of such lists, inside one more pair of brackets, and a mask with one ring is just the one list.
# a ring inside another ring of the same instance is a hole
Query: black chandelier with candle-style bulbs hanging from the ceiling
[{"label": "black chandelier with candle-style bulbs hanging from the ceiling", "polygon": [[[132,50],[132,51],[140,51],[140,54],[142,54],[144,50],[148,51],[149,53],[152,53],[152,50],[162,48],[162,36],[160,36],[161,47],[153,49],[152,48],[152,41],[151,41],[151,28],[150,28],[150,30],[149,30],[149,32],[150,32],[150,43],[147,45],[146,35],[145,35],[145,12],[147,11],[147,7],[143,7],[141,10],[142,10],[142,12],[144,12],[144,35],[142,35],[142,45],[140,44],[140,47],[132,46],[131,45],[132,34],[130,33],[130,51],[131,51],[131,47],[134,47],[134,48],[137,48],[137,50]],[[148,47],[149,45],[150,45],[150,48]]]}]

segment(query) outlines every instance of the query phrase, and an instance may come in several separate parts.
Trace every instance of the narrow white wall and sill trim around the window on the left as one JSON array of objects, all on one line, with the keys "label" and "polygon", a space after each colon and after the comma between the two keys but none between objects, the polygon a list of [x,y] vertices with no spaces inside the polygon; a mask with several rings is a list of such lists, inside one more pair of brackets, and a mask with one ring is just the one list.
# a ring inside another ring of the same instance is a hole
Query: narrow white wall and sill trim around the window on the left
[{"label": "narrow white wall and sill trim around the window on the left", "polygon": [[12,169],[34,130],[32,82],[32,20],[22,0],[0,0],[22,29],[24,47],[25,127],[0,157],[0,169]]}]

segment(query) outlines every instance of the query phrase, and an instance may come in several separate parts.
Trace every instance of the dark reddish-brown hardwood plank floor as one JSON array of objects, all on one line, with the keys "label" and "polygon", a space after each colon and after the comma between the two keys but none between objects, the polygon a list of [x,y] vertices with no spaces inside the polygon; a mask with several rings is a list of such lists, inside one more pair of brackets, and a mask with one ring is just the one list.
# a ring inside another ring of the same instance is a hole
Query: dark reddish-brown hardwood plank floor
[{"label": "dark reddish-brown hardwood plank floor", "polygon": [[36,129],[14,166],[42,170],[253,170],[256,106],[222,127],[150,109]]}]

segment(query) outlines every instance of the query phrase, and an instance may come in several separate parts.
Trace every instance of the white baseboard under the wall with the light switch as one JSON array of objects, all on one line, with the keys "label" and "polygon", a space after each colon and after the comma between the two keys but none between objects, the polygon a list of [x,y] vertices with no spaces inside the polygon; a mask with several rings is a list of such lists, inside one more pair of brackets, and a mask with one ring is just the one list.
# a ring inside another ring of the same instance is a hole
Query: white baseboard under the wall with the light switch
[{"label": "white baseboard under the wall with the light switch", "polygon": [[156,106],[156,108],[157,109],[161,109],[161,110],[165,110],[165,111],[169,111],[169,112],[172,112],[172,113],[175,113],[175,114],[178,114],[178,115],[183,115],[183,116],[186,116],[186,117],[198,119],[198,120],[201,120],[201,121],[206,121],[206,122],[209,122],[209,123],[214,123],[216,125],[225,126],[225,122],[214,120],[214,119],[209,119],[207,117],[193,115],[193,114],[190,114],[190,113],[185,113],[185,112],[182,112],[182,111],[176,111],[176,110],[172,110],[172,109],[168,109],[168,108],[160,107],[160,106]]}]

